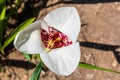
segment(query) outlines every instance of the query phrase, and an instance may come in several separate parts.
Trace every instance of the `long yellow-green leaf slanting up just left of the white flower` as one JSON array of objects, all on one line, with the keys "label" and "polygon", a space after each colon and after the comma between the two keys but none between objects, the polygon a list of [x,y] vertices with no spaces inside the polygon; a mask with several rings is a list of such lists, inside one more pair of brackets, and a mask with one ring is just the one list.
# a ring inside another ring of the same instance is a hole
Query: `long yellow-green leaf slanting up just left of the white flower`
[{"label": "long yellow-green leaf slanting up just left of the white flower", "polygon": [[28,25],[30,25],[34,20],[35,18],[28,19],[22,24],[20,24],[14,31],[12,31],[11,34],[6,38],[2,49],[6,48],[13,41],[17,33],[22,29],[26,28]]}]

